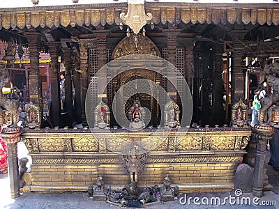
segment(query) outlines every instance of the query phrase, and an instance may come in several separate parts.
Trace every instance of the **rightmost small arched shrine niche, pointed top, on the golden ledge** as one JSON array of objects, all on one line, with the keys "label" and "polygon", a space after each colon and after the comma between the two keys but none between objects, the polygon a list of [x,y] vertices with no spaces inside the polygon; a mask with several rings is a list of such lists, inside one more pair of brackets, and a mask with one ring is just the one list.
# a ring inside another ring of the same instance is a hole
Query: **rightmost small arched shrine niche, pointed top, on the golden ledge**
[{"label": "rightmost small arched shrine niche, pointed top, on the golden ledge", "polygon": [[247,105],[240,99],[232,106],[232,126],[245,127],[247,126]]}]

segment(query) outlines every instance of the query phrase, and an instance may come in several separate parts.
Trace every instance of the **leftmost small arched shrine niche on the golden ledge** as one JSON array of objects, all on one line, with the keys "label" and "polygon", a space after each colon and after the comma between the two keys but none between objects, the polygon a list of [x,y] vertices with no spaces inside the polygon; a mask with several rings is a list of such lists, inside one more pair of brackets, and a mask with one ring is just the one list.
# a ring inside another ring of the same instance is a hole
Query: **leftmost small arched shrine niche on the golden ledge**
[{"label": "leftmost small arched shrine niche on the golden ledge", "polygon": [[34,129],[40,128],[41,116],[38,104],[29,103],[25,106],[25,114],[27,116],[26,126]]}]

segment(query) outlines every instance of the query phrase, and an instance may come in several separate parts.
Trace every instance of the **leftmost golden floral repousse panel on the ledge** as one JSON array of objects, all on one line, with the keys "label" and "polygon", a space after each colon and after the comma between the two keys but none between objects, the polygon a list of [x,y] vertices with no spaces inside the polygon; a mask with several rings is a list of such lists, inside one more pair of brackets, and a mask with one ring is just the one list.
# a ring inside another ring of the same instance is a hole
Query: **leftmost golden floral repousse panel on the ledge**
[{"label": "leftmost golden floral repousse panel on the ledge", "polygon": [[40,152],[62,152],[64,150],[64,140],[55,138],[38,139]]}]

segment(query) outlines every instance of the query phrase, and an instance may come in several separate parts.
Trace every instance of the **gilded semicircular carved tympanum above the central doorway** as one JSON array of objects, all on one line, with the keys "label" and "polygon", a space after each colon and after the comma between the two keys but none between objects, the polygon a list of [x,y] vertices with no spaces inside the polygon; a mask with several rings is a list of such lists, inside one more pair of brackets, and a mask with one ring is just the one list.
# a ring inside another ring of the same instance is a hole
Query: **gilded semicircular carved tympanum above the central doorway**
[{"label": "gilded semicircular carved tympanum above the central doorway", "polygon": [[117,59],[121,56],[129,54],[151,54],[160,56],[160,52],[156,45],[146,36],[137,34],[137,47],[135,46],[135,34],[130,37],[125,37],[119,42],[112,53],[112,58]]}]

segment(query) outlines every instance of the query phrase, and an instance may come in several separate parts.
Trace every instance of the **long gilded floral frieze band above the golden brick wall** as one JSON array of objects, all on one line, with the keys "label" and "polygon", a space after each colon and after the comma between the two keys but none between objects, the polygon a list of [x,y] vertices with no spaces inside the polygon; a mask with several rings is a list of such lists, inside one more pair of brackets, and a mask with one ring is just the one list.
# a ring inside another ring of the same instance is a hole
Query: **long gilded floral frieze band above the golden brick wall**
[{"label": "long gilded floral frieze band above the golden brick wall", "polygon": [[168,136],[157,132],[152,137],[151,132],[106,132],[99,133],[101,141],[98,141],[89,132],[73,131],[30,130],[22,137],[29,153],[121,153],[133,141],[137,141],[144,150],[175,153],[190,150],[244,150],[251,134],[249,129],[244,128],[204,128],[199,131],[190,128],[188,132],[170,132]]}]

